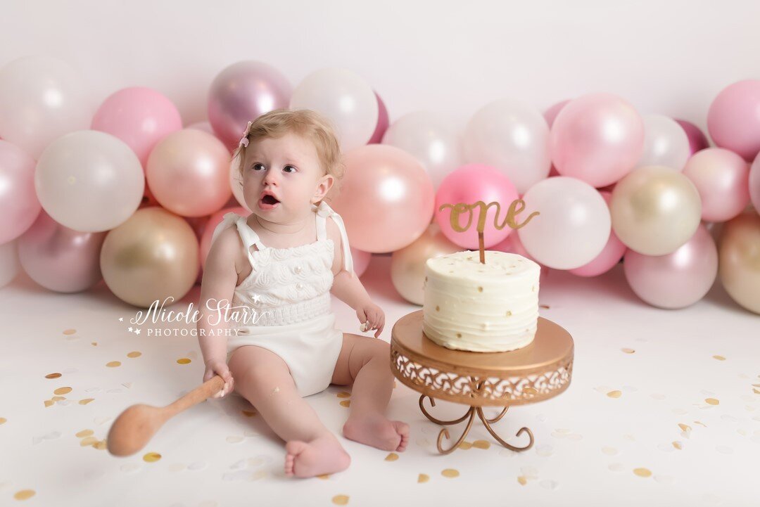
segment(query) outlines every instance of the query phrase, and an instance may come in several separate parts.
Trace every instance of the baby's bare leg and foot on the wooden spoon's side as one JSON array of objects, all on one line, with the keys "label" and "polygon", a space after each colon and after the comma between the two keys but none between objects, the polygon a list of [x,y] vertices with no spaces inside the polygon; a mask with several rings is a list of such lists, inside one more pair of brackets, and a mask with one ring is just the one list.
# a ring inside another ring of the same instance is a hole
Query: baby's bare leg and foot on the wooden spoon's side
[{"label": "baby's bare leg and foot on the wooden spoon's side", "polygon": [[314,477],[348,468],[351,458],[301,398],[287,364],[272,351],[244,345],[230,357],[235,390],[287,443],[285,474]]}]

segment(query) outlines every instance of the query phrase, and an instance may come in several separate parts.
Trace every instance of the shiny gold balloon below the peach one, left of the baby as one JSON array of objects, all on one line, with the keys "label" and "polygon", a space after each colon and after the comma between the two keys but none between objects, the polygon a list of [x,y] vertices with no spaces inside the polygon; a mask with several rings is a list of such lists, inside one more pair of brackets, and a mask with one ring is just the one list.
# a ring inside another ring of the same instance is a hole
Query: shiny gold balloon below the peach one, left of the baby
[{"label": "shiny gold balloon below the peach one, left of the baby", "polygon": [[138,209],[109,231],[100,251],[103,279],[116,297],[138,307],[172,304],[198,276],[198,239],[180,216],[159,206]]}]

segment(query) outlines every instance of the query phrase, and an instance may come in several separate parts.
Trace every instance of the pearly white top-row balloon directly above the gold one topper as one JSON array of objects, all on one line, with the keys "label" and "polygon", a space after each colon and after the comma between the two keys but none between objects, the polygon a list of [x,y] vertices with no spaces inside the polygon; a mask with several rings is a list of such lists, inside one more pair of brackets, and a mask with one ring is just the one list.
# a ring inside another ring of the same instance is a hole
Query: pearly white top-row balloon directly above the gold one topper
[{"label": "pearly white top-row balloon directly above the gold one topper", "polygon": [[549,124],[532,105],[500,99],[483,106],[467,123],[466,162],[492,165],[515,184],[518,194],[549,175]]}]

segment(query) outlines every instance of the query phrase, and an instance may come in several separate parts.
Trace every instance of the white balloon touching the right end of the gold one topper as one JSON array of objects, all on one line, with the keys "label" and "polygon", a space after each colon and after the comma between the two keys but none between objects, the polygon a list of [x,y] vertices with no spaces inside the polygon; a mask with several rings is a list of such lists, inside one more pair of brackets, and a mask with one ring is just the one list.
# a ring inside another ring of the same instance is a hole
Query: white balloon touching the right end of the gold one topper
[{"label": "white balloon touching the right end of the gold one topper", "polygon": [[594,260],[612,230],[610,209],[590,184],[569,176],[540,181],[524,195],[525,209],[517,216],[526,225],[518,236],[536,262],[556,269],[575,269]]}]

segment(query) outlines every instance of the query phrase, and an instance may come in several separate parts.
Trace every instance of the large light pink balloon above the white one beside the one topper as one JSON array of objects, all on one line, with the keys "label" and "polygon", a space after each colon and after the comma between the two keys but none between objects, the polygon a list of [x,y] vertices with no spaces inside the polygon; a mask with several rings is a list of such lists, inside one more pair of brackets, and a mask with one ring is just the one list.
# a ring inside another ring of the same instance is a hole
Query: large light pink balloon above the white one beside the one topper
[{"label": "large light pink balloon above the white one beside the one topper", "polygon": [[563,176],[604,187],[627,175],[644,149],[644,121],[610,93],[572,99],[551,130],[552,162]]}]

